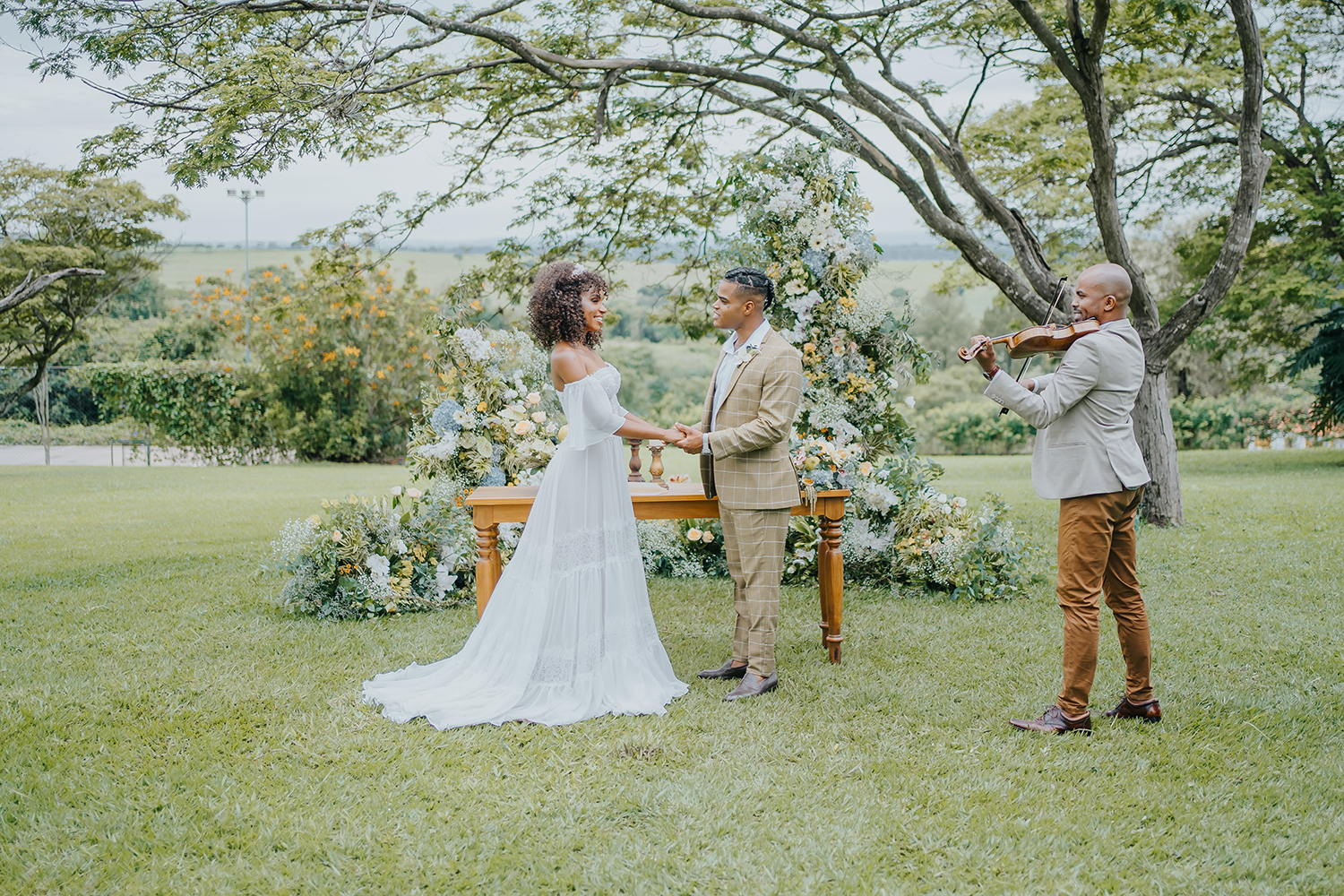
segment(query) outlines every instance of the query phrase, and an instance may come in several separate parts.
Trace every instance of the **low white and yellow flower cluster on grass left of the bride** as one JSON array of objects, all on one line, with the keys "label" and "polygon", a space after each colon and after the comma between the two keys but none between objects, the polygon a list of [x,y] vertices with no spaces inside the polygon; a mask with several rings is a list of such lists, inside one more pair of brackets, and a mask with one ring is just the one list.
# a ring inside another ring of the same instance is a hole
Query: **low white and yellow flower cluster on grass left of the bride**
[{"label": "low white and yellow flower cluster on grass left of the bride", "polygon": [[[395,486],[375,500],[323,500],[323,514],[290,520],[270,570],[289,574],[281,603],[320,618],[374,618],[464,603],[466,517],[433,496]],[[466,528],[470,529],[469,520]]]}]

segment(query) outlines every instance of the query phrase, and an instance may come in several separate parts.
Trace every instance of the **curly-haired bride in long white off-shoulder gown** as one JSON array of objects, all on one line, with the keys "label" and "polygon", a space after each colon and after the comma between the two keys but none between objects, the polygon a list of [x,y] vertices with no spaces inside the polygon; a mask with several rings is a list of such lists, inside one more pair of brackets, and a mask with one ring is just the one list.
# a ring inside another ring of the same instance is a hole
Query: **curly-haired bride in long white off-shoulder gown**
[{"label": "curly-haired bride in long white off-shoulder gown", "polygon": [[569,434],[480,622],[456,656],[364,682],[392,721],[435,728],[511,720],[563,725],[605,713],[664,713],[687,692],[649,610],[621,439],[675,442],[616,400],[620,372],[602,340],[606,281],[570,262],[547,266],[528,304],[551,351]]}]

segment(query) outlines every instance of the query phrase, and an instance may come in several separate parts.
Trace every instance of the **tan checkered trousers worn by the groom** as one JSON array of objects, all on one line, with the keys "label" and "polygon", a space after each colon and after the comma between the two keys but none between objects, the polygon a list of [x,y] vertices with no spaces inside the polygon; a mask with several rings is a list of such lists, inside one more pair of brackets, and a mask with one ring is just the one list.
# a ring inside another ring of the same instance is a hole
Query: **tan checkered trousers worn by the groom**
[{"label": "tan checkered trousers worn by the groom", "polygon": [[789,510],[741,510],[719,506],[723,549],[732,576],[732,661],[765,677],[774,672],[774,633],[780,625],[780,580]]}]

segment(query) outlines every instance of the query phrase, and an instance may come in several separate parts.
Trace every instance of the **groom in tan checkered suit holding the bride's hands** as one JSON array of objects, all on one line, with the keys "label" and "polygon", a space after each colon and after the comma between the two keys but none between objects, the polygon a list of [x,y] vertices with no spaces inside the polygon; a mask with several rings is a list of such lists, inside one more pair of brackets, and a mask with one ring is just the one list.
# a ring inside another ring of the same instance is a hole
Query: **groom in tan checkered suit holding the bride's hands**
[{"label": "groom in tan checkered suit holding the bride's hands", "polygon": [[754,267],[723,275],[714,325],[731,330],[695,429],[677,423],[677,445],[700,455],[704,496],[719,496],[723,547],[732,576],[732,657],[702,678],[742,678],[724,700],[755,697],[780,684],[774,631],[789,510],[798,504],[798,476],[789,433],[802,398],[802,356],[770,329],[774,282]]}]

